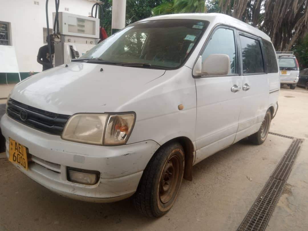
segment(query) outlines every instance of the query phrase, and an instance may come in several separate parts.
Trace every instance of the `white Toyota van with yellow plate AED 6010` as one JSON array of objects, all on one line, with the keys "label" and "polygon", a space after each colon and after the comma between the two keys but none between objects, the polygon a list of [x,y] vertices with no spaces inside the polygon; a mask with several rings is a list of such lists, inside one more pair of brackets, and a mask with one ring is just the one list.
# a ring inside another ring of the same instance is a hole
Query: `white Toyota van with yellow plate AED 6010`
[{"label": "white Toyota van with yellow plate AED 6010", "polygon": [[279,89],[274,47],[256,28],[224,14],[144,19],[16,85],[6,155],[62,196],[134,195],[159,217],[193,165],[245,137],[265,141]]}]

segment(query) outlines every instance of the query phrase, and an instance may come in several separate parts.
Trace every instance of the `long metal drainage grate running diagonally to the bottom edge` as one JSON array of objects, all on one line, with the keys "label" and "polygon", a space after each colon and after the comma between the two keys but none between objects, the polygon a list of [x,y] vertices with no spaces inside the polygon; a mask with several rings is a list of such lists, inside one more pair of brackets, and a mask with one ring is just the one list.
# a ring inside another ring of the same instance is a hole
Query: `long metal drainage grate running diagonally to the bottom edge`
[{"label": "long metal drainage grate running diagonally to the bottom edge", "polygon": [[265,230],[286,184],[302,142],[302,139],[293,140],[237,231]]}]

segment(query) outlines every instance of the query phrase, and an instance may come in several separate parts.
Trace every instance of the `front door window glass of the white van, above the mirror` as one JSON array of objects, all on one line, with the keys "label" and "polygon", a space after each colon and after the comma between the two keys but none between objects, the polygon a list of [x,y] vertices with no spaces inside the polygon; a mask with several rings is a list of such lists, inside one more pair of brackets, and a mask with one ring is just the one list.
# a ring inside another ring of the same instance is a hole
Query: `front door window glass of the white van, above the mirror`
[{"label": "front door window glass of the white van, above the mirror", "polygon": [[229,74],[238,73],[233,30],[218,28],[214,32],[202,54],[202,62],[211,54],[228,55],[230,58]]}]

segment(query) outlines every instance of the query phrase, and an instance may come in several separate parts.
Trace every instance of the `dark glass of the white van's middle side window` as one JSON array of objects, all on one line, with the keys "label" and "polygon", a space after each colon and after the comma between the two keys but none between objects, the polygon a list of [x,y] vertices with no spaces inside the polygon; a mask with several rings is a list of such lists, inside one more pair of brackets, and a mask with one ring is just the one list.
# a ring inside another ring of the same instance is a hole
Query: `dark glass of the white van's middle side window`
[{"label": "dark glass of the white van's middle side window", "polygon": [[260,42],[242,35],[240,35],[240,40],[243,57],[243,73],[263,73],[264,64]]}]

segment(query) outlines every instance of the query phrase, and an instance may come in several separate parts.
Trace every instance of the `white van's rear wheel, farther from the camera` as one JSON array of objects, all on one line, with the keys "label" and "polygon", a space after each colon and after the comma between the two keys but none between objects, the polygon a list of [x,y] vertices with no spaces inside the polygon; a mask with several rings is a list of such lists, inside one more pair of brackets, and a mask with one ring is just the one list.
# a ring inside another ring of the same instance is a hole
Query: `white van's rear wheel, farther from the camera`
[{"label": "white van's rear wheel, farther from the camera", "polygon": [[257,145],[262,144],[266,140],[269,133],[271,120],[272,113],[270,112],[270,110],[267,110],[260,129],[256,133],[248,137],[249,141]]}]

